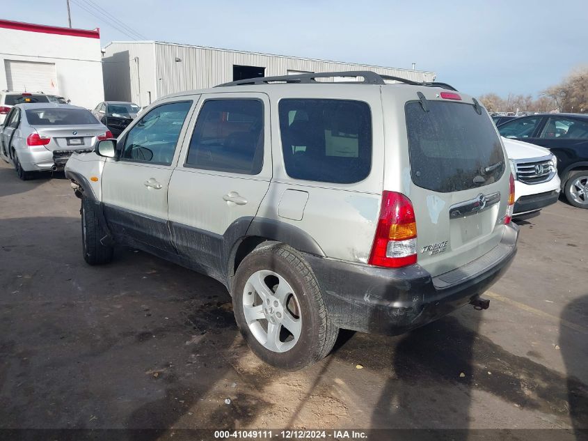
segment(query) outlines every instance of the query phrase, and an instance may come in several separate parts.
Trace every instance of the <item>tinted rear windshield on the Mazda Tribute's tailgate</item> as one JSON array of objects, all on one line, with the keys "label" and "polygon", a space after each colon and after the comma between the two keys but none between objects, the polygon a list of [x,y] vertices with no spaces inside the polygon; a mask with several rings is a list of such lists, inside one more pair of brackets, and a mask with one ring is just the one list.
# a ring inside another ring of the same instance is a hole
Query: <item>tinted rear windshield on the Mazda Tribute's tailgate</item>
[{"label": "tinted rear windshield on the Mazda Tribute's tailgate", "polygon": [[419,187],[459,192],[496,182],[505,169],[500,138],[473,105],[429,101],[406,104],[411,176]]}]

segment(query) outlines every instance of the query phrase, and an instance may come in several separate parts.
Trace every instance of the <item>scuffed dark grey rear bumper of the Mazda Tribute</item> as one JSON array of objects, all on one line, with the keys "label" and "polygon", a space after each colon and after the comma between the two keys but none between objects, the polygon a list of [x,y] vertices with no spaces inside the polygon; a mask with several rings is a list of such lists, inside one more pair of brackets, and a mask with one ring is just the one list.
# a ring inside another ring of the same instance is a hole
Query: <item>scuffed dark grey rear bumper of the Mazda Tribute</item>
[{"label": "scuffed dark grey rear bumper of the Mazda Tribute", "polygon": [[388,269],[307,255],[337,327],[403,334],[472,302],[509,268],[518,226],[509,224],[500,244],[461,268],[431,277],[420,265]]}]

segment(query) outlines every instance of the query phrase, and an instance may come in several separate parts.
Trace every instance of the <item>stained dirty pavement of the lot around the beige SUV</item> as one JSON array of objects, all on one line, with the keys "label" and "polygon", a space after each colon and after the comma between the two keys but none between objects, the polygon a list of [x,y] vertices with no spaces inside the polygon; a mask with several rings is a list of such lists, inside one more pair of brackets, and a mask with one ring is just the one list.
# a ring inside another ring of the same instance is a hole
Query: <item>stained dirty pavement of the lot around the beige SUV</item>
[{"label": "stained dirty pavement of the lot around the beige SUV", "polygon": [[487,311],[285,373],[221,284],[132,249],[86,265],[69,182],[2,163],[0,428],[588,428],[588,211],[520,225]]}]

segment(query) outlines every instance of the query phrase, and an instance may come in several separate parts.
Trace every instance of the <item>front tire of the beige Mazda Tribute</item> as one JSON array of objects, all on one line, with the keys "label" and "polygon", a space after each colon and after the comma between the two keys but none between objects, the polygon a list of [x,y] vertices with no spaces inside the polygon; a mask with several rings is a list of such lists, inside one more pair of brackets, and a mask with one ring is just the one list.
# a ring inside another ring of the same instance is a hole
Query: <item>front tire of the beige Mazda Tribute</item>
[{"label": "front tire of the beige Mazda Tribute", "polygon": [[100,240],[106,236],[100,217],[96,215],[93,202],[81,200],[81,244],[84,260],[89,265],[104,265],[112,261],[113,247],[102,245]]}]

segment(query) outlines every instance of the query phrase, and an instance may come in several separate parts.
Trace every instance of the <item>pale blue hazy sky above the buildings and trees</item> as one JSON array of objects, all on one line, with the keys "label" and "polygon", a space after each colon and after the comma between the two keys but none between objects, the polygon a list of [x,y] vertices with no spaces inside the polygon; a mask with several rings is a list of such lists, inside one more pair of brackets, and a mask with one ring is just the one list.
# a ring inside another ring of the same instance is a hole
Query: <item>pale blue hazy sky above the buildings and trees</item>
[{"label": "pale blue hazy sky above the buildings and trees", "polygon": [[[474,95],[537,95],[588,65],[588,0],[70,1],[72,26],[100,27],[102,46],[130,38],[84,10],[96,13],[92,2],[148,40],[397,68],[414,62]],[[6,20],[67,26],[65,0],[2,3]]]}]

